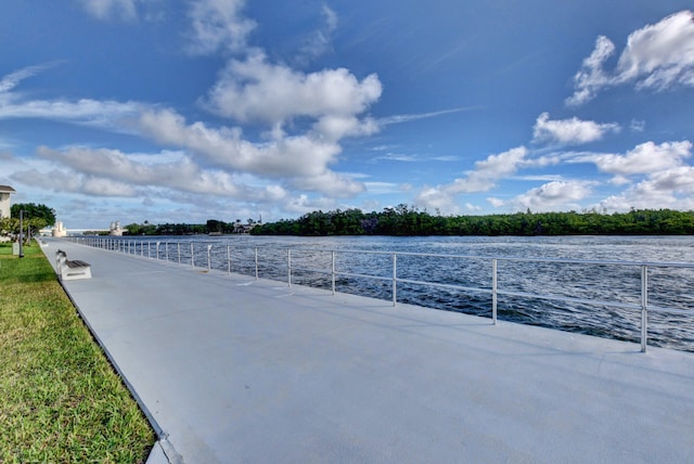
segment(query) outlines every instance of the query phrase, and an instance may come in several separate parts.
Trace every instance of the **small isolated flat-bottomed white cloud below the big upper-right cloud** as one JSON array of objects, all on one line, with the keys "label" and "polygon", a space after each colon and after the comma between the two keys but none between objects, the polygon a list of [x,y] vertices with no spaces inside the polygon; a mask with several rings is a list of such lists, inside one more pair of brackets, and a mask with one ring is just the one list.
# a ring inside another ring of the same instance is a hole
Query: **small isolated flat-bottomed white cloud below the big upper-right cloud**
[{"label": "small isolated flat-bottomed white cloud below the big upper-right cloud", "polygon": [[601,140],[607,132],[618,132],[615,123],[597,124],[591,120],[571,119],[550,120],[549,113],[542,113],[535,123],[532,141],[549,144],[581,144]]}]

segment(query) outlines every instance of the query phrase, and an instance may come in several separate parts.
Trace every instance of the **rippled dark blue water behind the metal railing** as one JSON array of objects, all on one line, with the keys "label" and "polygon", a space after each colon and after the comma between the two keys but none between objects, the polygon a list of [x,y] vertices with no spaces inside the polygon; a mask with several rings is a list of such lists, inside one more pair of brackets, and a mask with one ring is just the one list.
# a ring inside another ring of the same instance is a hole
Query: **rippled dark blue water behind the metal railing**
[{"label": "rippled dark blue water behind the metal railing", "polygon": [[[124,239],[128,240],[128,239]],[[132,239],[131,239],[132,240]],[[398,252],[466,255],[478,258],[398,255],[399,280],[458,285],[467,289],[432,287],[398,282],[399,302],[491,317],[491,258],[498,262],[498,288],[558,297],[641,305],[641,267],[558,262],[525,262],[503,258],[550,258],[632,262],[694,263],[693,236],[562,236],[562,237],[157,237],[137,248],[138,254],[168,256],[171,261],[194,262],[222,271],[255,274],[258,247],[259,275],[287,281],[287,248],[292,282],[330,288],[331,250],[336,271],[368,274],[380,280],[338,275],[336,289],[390,300],[393,257]],[[140,240],[138,240],[138,243]],[[134,242],[133,242],[134,243]],[[165,243],[168,243],[165,245]],[[181,243],[178,245],[176,243]],[[134,246],[134,245],[133,245]],[[140,245],[138,245],[140,246]],[[180,252],[179,252],[180,250]],[[351,253],[344,253],[350,250]],[[230,259],[229,259],[230,258]],[[483,291],[473,291],[481,288]],[[648,312],[648,345],[694,351],[694,269],[648,268],[648,306],[684,312]],[[563,331],[639,343],[640,309],[605,305],[552,301],[500,295],[498,317]]]}]

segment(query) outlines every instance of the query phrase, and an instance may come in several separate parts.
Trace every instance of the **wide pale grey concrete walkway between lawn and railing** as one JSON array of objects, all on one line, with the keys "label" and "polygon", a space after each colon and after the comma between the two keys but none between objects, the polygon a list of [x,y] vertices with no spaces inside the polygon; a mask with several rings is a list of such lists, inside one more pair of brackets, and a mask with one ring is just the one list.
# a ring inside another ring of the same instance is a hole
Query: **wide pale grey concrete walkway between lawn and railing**
[{"label": "wide pale grey concrete walkway between lawn and railing", "polygon": [[694,462],[694,355],[49,240],[150,462]]}]

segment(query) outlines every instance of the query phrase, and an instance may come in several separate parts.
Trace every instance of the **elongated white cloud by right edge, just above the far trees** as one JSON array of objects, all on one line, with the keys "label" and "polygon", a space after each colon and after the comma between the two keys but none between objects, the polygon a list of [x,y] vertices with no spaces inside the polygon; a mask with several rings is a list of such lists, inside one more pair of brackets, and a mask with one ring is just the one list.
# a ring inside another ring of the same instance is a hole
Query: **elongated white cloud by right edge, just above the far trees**
[{"label": "elongated white cloud by right edge, just above the far trees", "polygon": [[625,155],[590,154],[574,158],[573,162],[594,163],[602,172],[617,176],[653,173],[682,166],[692,154],[692,142],[664,142],[656,145],[645,142]]}]

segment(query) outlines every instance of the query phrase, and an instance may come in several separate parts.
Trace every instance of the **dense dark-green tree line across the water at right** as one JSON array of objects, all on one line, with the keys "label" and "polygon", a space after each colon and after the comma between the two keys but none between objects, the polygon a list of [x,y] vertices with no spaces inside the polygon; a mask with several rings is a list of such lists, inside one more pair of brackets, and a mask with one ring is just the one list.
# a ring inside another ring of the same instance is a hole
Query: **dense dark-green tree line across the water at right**
[{"label": "dense dark-green tree line across the water at right", "polygon": [[255,235],[692,235],[694,211],[632,209],[606,214],[516,212],[486,216],[430,215],[408,205],[381,212],[313,211],[298,219],[264,223]]}]

